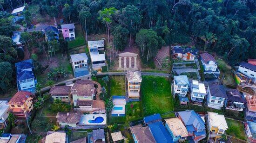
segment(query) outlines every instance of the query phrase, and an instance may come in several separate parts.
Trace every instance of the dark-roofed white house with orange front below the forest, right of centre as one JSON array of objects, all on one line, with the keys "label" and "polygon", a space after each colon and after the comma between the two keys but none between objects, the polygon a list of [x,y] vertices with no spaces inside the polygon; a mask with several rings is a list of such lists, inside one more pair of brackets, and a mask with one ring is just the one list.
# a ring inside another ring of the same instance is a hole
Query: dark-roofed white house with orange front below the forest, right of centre
[{"label": "dark-roofed white house with orange front below the forest, right of centre", "polygon": [[184,61],[193,61],[197,57],[198,50],[192,48],[172,47],[172,56]]}]

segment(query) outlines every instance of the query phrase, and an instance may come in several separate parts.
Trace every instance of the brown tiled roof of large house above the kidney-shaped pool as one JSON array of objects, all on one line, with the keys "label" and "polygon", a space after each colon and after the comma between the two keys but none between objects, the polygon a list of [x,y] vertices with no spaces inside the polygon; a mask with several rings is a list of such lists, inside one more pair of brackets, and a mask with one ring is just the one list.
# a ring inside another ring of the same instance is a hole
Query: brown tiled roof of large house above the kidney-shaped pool
[{"label": "brown tiled roof of large house above the kidney-shaped pool", "polygon": [[77,94],[77,96],[92,96],[94,93],[94,82],[90,80],[75,81],[71,87],[71,94]]}]

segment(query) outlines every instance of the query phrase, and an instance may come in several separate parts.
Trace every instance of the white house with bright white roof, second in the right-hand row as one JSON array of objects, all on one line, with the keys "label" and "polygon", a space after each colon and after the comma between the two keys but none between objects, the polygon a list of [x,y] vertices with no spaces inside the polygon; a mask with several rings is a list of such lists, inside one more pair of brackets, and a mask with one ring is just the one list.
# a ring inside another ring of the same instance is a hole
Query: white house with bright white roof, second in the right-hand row
[{"label": "white house with bright white roof, second in the right-hand row", "polygon": [[190,85],[191,100],[202,103],[204,97],[207,95],[205,86],[199,81],[193,80]]}]

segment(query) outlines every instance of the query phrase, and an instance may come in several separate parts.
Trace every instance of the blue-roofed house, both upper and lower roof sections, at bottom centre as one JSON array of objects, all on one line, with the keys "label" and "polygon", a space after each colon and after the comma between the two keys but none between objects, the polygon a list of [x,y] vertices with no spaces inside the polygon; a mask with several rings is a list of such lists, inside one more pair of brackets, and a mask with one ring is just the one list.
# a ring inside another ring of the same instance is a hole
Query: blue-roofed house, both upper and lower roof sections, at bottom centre
[{"label": "blue-roofed house, both upper and lower roof sections, at bottom centre", "polygon": [[162,124],[160,114],[154,114],[143,118],[144,124],[148,125],[156,143],[174,143],[171,135]]}]

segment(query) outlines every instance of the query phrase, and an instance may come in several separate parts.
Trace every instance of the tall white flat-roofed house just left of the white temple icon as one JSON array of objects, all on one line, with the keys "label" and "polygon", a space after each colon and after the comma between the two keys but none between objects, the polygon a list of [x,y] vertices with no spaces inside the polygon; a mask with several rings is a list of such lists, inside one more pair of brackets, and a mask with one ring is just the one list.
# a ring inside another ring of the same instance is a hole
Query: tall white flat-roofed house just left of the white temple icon
[{"label": "tall white flat-roofed house just left of the white temple icon", "polygon": [[88,48],[93,69],[101,71],[101,67],[106,66],[104,40],[88,41]]}]

